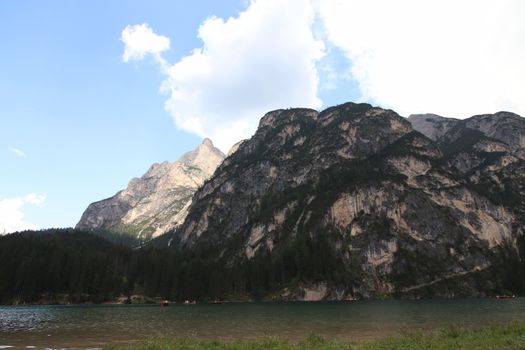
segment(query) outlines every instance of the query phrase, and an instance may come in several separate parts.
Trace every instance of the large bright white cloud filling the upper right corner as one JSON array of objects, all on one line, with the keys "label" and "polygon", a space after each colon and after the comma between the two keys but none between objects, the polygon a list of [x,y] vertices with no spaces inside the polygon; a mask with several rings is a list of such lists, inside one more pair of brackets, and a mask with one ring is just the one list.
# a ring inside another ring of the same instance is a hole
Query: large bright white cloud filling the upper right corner
[{"label": "large bright white cloud filling the upper right corner", "polygon": [[317,0],[364,99],[402,114],[525,115],[525,2]]}]

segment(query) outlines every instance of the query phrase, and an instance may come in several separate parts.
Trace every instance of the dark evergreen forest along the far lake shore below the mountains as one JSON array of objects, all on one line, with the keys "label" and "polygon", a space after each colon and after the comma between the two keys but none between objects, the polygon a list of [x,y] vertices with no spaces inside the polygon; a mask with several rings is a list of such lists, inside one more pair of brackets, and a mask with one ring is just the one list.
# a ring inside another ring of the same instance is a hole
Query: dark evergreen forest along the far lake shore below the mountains
[{"label": "dark evergreen forest along the far lake shore below the mountains", "polygon": [[[525,292],[523,243],[521,256],[507,251],[486,271],[485,277],[502,281],[495,293]],[[192,249],[134,246],[120,236],[74,229],[9,234],[0,237],[0,303],[101,303],[133,295],[177,302],[272,300],[302,283],[323,281],[351,290],[364,273],[360,261],[349,266],[334,254],[329,232],[298,235],[253,259],[232,259],[219,249],[206,240]]]}]

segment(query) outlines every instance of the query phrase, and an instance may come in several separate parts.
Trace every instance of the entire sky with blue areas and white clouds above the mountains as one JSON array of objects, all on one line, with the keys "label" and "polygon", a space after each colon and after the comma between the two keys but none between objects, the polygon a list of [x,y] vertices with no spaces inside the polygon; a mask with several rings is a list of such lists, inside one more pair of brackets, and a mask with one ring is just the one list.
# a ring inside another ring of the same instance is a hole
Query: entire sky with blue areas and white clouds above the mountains
[{"label": "entire sky with blue areas and white clouds above the mountains", "polygon": [[368,102],[525,116],[522,0],[0,2],[0,234],[91,202],[264,113]]}]

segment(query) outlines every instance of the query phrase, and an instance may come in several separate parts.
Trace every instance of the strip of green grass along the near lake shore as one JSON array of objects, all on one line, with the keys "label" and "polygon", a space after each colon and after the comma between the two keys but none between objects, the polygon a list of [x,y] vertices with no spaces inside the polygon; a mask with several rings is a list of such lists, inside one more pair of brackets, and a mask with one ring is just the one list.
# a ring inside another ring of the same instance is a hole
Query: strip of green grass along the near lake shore
[{"label": "strip of green grass along the near lake shore", "polygon": [[511,323],[483,328],[449,326],[432,332],[403,330],[388,338],[362,341],[332,341],[309,335],[302,341],[279,338],[262,340],[213,341],[197,339],[154,339],[115,350],[412,350],[412,349],[494,349],[525,350],[525,324]]}]

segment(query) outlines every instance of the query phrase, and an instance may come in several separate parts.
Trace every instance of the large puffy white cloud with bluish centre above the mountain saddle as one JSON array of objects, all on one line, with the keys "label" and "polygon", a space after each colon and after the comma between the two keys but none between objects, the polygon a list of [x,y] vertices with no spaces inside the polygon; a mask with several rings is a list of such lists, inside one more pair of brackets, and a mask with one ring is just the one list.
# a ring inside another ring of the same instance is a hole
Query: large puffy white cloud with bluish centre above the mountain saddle
[{"label": "large puffy white cloud with bluish centre above the mountain saddle", "polygon": [[308,0],[258,0],[235,18],[208,18],[203,46],[163,66],[177,126],[227,151],[272,109],[320,107],[315,63],[324,45],[312,34],[314,15]]}]

